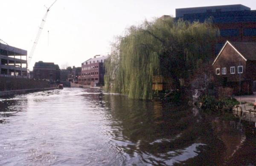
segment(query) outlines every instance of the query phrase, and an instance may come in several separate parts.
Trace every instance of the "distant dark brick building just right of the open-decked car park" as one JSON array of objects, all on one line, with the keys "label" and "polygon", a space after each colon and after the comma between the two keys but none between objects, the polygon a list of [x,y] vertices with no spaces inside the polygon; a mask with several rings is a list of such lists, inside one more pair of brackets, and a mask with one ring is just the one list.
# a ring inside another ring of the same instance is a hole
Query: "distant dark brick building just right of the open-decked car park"
[{"label": "distant dark brick building just right of the open-decked car park", "polygon": [[47,79],[49,81],[60,80],[60,68],[52,62],[35,62],[33,67],[34,79]]}]

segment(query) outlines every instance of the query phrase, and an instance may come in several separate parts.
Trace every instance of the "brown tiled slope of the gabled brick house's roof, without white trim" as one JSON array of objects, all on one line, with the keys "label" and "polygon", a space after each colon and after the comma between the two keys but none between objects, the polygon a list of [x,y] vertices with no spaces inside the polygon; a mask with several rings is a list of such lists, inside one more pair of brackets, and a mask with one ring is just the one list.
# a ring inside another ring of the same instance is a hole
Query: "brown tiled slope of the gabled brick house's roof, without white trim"
[{"label": "brown tiled slope of the gabled brick house's roof, without white trim", "polygon": [[256,60],[256,42],[231,42],[247,60]]}]

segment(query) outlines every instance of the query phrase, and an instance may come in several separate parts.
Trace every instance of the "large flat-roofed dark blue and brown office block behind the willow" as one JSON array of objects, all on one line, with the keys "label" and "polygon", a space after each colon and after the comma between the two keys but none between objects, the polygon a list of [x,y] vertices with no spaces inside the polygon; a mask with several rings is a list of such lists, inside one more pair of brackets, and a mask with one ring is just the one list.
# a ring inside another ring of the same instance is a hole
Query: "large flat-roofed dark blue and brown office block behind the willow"
[{"label": "large flat-roofed dark blue and brown office block behind the willow", "polygon": [[209,17],[219,28],[220,37],[215,45],[217,54],[227,40],[256,42],[256,10],[244,5],[206,6],[195,8],[177,8],[176,19],[203,23]]}]

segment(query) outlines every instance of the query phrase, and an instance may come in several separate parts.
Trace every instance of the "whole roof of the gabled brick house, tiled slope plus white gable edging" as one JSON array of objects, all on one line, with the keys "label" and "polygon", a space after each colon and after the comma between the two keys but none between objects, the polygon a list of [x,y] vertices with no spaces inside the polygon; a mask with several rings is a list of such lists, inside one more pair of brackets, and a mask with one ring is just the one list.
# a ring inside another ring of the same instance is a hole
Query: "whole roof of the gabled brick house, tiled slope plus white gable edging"
[{"label": "whole roof of the gabled brick house, tiled slope plus white gable edging", "polygon": [[236,52],[239,53],[239,55],[244,60],[256,60],[256,42],[230,42],[227,41],[225,45],[222,47],[221,51],[218,53],[218,56],[215,58],[212,65],[216,62],[218,57],[221,55],[221,52],[224,50],[226,45],[231,45]]}]

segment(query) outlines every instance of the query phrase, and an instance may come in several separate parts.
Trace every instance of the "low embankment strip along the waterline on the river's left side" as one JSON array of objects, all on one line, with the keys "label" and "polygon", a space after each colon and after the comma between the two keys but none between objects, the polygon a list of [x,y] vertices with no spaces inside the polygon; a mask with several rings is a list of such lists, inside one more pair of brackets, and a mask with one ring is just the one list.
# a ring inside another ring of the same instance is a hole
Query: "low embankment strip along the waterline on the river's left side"
[{"label": "low embankment strip along the waterline on the river's left side", "polygon": [[32,93],[32,92],[40,92],[45,90],[54,90],[54,89],[58,89],[58,87],[23,89],[23,90],[6,90],[6,91],[0,91],[0,97],[20,95],[20,94],[26,94],[26,93]]}]

